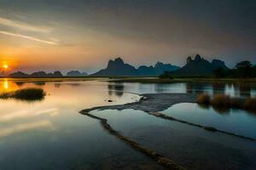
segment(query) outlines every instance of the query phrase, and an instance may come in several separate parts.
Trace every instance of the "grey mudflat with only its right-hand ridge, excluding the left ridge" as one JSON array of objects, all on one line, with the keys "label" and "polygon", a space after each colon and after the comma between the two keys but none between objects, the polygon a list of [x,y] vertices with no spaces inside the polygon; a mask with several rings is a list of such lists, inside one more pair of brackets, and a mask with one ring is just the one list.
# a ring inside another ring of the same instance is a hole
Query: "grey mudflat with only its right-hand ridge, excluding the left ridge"
[{"label": "grey mudflat with only its right-hand ridge, excluding the left ridge", "polygon": [[237,133],[230,133],[221,129],[218,129],[216,127],[209,127],[204,126],[201,124],[193,123],[193,122],[186,122],[181,119],[177,119],[172,116],[167,116],[166,114],[161,113],[160,111],[165,111],[172,105],[178,104],[178,103],[196,103],[196,94],[140,94],[139,96],[142,96],[141,99],[135,102],[127,103],[124,105],[103,105],[103,106],[96,106],[89,109],[84,109],[82,111],[79,111],[79,113],[83,115],[88,115],[90,111],[104,111],[104,110],[125,110],[125,109],[131,109],[135,111],[144,111],[148,115],[156,116],[162,119],[166,119],[169,121],[176,121],[183,124],[187,124],[189,126],[193,127],[199,127],[203,128],[204,130],[211,132],[211,133],[223,133],[225,135],[230,135],[236,138],[241,139],[247,139],[251,141],[256,141],[256,139],[243,136],[241,134]]}]

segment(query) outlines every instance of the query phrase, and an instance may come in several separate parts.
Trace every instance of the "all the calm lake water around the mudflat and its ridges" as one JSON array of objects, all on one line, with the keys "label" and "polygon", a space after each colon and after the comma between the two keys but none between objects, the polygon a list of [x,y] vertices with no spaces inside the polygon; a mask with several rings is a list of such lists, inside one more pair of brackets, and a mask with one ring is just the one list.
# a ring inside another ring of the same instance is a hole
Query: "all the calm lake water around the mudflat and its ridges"
[{"label": "all the calm lake water around the mudflat and its ridges", "polygon": [[[13,82],[2,79],[0,82],[0,92],[28,87],[44,88],[47,96],[43,101],[32,103],[14,99],[0,100],[1,170],[120,169],[123,167],[160,169],[161,167],[153,161],[137,151],[131,150],[109,135],[102,129],[99,122],[80,115],[79,111],[97,105],[118,105],[133,102],[139,99],[137,94],[145,93],[208,92],[209,94],[224,93],[241,97],[255,96],[255,87],[250,84],[242,85],[243,88],[241,88],[240,84],[218,84],[218,86],[210,83],[141,84],[111,83],[100,80],[84,82]],[[112,99],[113,103],[108,103],[108,99]],[[253,123],[256,124],[255,118],[246,112],[236,111],[226,116],[219,115],[211,109],[203,110],[206,115],[210,115],[208,117],[199,116],[201,109],[196,108],[194,104],[180,105],[180,107],[173,105],[166,113],[175,114],[172,116],[183,119],[191,117],[189,119],[191,122],[209,123],[218,128],[232,129],[239,133],[255,136],[253,130],[250,130]],[[188,111],[183,110],[183,105],[189,105],[189,111],[191,111],[191,114],[195,114],[187,116]],[[154,116],[148,116],[142,111],[93,112],[99,114],[99,116],[108,116],[109,114],[111,116],[110,123],[113,124],[113,127],[154,150],[160,150],[160,152],[165,153],[166,156],[170,156],[185,167],[191,169],[200,167],[199,164],[205,161],[202,157],[209,148],[218,149],[220,154],[223,151],[222,160],[218,158],[220,156],[212,153],[211,157],[207,158],[209,160],[206,161],[209,165],[211,165],[211,159],[214,162],[226,161],[226,157],[230,154],[233,156],[238,150],[237,153],[240,155],[232,162],[229,158],[227,167],[232,167],[234,163],[239,164],[239,166],[245,163],[254,166],[250,159],[247,160],[247,155],[244,152],[251,154],[254,158],[255,144],[241,139],[207,133],[177,122],[166,122]],[[239,120],[241,120],[241,124],[239,124]],[[225,122],[229,123],[225,124]],[[237,125],[240,128],[236,127]],[[170,135],[173,135],[172,138]],[[217,137],[220,141],[217,140]],[[160,141],[160,139],[163,140]],[[180,140],[183,140],[184,144],[180,143]],[[200,144],[203,144],[203,147],[198,150]],[[229,146],[230,144],[232,146]],[[225,147],[219,148],[219,145]],[[172,146],[177,149],[172,150]],[[226,148],[228,146],[234,147],[236,150],[228,150]],[[241,146],[242,150],[238,146]],[[164,148],[170,148],[170,150],[163,150]],[[186,150],[183,148],[186,148]],[[189,156],[192,156],[192,158],[189,159]]]}]

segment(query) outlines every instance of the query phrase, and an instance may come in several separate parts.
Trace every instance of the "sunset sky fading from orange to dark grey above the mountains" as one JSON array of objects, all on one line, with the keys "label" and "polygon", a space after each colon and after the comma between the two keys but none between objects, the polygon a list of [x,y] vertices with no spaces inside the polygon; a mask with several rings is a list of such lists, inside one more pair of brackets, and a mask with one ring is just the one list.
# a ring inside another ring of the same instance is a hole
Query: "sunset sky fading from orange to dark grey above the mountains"
[{"label": "sunset sky fading from orange to dark grey above the mountains", "polygon": [[182,66],[190,55],[256,64],[255,0],[0,0],[0,62],[10,71],[92,73]]}]

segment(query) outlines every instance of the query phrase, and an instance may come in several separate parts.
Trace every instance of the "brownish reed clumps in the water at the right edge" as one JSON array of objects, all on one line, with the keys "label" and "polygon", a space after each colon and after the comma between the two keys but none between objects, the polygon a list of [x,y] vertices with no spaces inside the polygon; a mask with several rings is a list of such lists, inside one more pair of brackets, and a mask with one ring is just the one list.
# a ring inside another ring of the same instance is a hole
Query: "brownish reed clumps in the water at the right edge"
[{"label": "brownish reed clumps in the water at the right edge", "polygon": [[209,94],[200,94],[197,96],[199,105],[212,105],[218,111],[228,111],[230,108],[245,109],[247,111],[256,111],[256,98],[230,98],[229,95],[217,94],[211,99]]}]

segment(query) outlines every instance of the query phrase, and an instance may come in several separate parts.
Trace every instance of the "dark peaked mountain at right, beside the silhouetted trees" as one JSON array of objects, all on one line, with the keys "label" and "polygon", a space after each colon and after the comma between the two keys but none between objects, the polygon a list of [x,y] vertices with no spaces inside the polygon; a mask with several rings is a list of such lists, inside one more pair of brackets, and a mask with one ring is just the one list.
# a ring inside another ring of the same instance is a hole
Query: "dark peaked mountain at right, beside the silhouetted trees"
[{"label": "dark peaked mountain at right, beside the silhouetted trees", "polygon": [[218,68],[229,69],[222,60],[212,59],[212,62],[209,62],[207,59],[201,58],[199,54],[196,54],[195,59],[188,57],[186,65],[170,73],[178,76],[207,76],[212,75],[213,71]]}]

